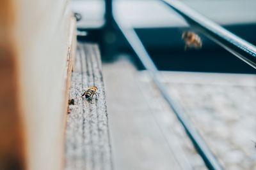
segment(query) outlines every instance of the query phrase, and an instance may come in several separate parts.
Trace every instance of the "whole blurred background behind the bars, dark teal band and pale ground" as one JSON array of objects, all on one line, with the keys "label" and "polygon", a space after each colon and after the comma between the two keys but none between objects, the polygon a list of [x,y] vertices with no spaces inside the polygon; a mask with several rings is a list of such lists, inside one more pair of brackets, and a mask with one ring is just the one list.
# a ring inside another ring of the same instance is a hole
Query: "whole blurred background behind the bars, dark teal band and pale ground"
[{"label": "whole blurred background behind the bars, dark teal band and pale ground", "polygon": [[[255,69],[207,38],[161,1],[72,1],[78,39],[100,45],[116,169],[207,169],[186,131],[106,13],[134,28],[160,81],[223,169],[256,169]],[[180,1],[256,44],[256,1]],[[201,48],[187,48],[195,32]]]}]

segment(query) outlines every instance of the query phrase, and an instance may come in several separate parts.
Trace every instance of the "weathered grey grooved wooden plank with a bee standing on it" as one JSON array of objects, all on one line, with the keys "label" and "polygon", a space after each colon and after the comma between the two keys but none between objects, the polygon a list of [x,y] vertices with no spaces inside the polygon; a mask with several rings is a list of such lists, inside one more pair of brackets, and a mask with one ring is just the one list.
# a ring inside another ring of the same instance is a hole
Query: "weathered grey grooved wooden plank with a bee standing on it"
[{"label": "weathered grey grooved wooden plank with a bee standing on it", "polygon": [[[98,87],[99,95],[88,102],[81,95],[87,87],[93,85]],[[68,108],[65,169],[113,169],[108,113],[97,45],[77,45],[70,99],[74,99],[74,105],[69,105]]]}]

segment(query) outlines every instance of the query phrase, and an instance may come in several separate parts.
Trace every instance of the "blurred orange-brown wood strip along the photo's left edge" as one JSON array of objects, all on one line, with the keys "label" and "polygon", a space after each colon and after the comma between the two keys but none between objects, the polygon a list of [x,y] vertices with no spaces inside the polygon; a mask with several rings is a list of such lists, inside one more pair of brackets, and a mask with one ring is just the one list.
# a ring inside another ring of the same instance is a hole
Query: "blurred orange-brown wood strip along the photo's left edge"
[{"label": "blurred orange-brown wood strip along the photo's left edge", "polygon": [[16,6],[0,1],[0,169],[25,169],[24,125],[19,101],[17,46],[13,41]]}]

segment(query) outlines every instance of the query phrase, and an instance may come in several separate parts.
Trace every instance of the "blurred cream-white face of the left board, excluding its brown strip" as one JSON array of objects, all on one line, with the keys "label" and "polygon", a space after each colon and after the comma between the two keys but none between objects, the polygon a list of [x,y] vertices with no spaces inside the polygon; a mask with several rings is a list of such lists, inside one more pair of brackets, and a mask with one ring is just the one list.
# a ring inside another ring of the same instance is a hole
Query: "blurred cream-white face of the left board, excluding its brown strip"
[{"label": "blurred cream-white face of the left board, excluding its brown strip", "polygon": [[30,170],[63,167],[68,0],[15,0],[15,38]]}]

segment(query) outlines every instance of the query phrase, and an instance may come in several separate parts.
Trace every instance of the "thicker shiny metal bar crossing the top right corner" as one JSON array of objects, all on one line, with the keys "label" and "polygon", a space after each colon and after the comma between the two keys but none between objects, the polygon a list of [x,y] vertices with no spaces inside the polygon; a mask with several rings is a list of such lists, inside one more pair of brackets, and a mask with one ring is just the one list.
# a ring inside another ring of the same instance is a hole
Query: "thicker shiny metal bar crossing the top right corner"
[{"label": "thicker shiny metal bar crossing the top right corner", "polygon": [[199,29],[205,36],[212,39],[228,52],[233,53],[256,69],[256,46],[244,41],[235,34],[227,31],[220,25],[192,10],[177,0],[161,0],[179,13],[192,27]]}]

